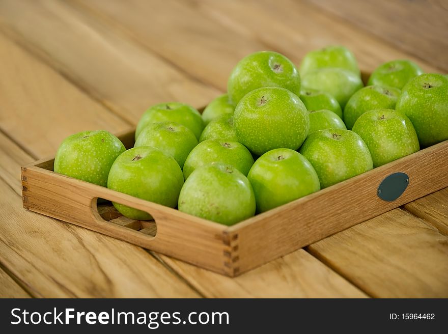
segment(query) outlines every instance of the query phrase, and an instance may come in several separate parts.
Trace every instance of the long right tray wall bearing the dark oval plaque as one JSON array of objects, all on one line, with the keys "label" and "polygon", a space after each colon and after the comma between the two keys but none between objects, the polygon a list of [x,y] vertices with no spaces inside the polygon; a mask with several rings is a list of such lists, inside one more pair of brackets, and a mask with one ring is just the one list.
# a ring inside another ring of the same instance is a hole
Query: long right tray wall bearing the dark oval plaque
[{"label": "long right tray wall bearing the dark oval plaque", "polygon": [[[381,181],[395,172],[409,176],[400,198],[377,196]],[[242,273],[448,186],[448,141],[380,166],[314,194],[241,222],[229,229]]]}]

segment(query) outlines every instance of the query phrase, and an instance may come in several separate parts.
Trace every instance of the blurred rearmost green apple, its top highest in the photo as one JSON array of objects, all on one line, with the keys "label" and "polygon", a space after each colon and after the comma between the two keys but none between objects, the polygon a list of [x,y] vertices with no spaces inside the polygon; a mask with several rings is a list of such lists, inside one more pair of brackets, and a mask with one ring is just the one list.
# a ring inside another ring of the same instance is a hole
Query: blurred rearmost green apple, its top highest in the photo
[{"label": "blurred rearmost green apple, its top highest in the photo", "polygon": [[360,76],[358,63],[354,54],[345,46],[327,46],[319,50],[314,50],[305,54],[300,64],[300,75],[305,76],[307,73],[324,68],[338,67],[353,72]]}]

